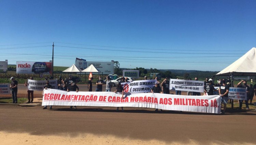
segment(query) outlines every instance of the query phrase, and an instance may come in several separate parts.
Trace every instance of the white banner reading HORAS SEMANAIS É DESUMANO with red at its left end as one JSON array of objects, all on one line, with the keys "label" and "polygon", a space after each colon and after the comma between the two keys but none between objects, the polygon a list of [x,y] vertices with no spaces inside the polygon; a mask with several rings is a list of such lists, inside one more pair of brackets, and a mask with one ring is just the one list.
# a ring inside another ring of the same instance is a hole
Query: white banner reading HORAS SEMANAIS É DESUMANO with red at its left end
[{"label": "white banner reading HORAS SEMANAIS \u00c9 DESUMANO with red at its left end", "polygon": [[132,93],[145,93],[151,92],[151,89],[155,86],[156,80],[136,80],[121,83],[124,88],[124,92]]}]

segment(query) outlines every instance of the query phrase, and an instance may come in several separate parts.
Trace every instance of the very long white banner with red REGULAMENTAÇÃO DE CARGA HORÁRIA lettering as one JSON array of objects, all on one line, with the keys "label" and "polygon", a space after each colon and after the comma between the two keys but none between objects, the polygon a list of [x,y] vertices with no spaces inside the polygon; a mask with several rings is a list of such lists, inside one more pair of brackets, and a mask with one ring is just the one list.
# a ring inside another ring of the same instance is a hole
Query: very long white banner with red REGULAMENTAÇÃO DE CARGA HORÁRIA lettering
[{"label": "very long white banner with red REGULAMENTA\u00c7\u00c3O DE CARGA HOR\u00c1RIA lettering", "polygon": [[220,113],[220,96],[183,96],[160,93],[122,93],[114,92],[67,92],[47,89],[43,93],[44,105],[54,106],[107,106],[143,107],[164,110]]}]

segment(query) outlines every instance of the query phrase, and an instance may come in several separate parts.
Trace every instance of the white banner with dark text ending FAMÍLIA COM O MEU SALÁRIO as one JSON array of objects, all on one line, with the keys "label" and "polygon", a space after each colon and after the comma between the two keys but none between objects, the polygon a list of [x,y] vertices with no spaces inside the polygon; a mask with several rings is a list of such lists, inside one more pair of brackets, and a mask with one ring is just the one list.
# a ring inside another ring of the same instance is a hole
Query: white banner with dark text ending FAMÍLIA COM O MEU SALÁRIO
[{"label": "white banner with dark text ending FAM\u00cdLIA COM O MEU SAL\u00c1RIO", "polygon": [[198,80],[170,79],[170,90],[204,92],[204,82]]}]

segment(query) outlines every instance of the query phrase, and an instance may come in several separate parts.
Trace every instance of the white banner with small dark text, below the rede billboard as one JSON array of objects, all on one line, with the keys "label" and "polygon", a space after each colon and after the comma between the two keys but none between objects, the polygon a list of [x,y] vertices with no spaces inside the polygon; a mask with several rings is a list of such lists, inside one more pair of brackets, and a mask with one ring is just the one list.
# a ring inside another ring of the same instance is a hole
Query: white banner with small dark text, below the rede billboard
[{"label": "white banner with small dark text, below the rede billboard", "polygon": [[[49,79],[50,85],[52,85],[53,89],[58,89],[58,83],[56,79]],[[46,85],[45,80],[31,80],[28,79],[28,90],[33,91],[43,91],[44,85]]]}]

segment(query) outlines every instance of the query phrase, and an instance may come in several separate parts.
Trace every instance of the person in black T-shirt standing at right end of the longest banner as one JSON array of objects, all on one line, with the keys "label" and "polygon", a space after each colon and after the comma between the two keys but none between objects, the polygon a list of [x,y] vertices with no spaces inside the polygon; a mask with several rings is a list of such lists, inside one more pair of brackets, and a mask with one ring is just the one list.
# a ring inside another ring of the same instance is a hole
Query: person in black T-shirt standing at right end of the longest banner
[{"label": "person in black T-shirt standing at right end of the longest banner", "polygon": [[226,84],[226,80],[222,80],[222,85],[219,87],[219,95],[221,96],[221,103],[224,104],[222,114],[225,114],[228,103],[229,86]]}]

